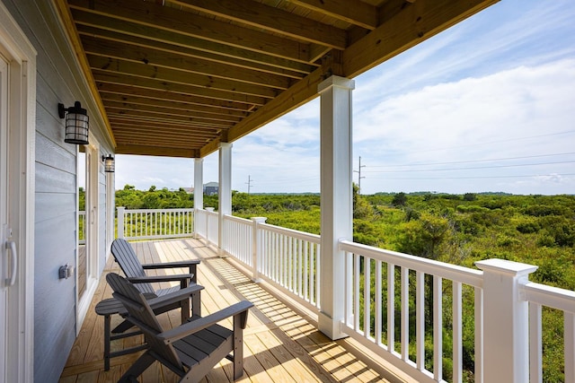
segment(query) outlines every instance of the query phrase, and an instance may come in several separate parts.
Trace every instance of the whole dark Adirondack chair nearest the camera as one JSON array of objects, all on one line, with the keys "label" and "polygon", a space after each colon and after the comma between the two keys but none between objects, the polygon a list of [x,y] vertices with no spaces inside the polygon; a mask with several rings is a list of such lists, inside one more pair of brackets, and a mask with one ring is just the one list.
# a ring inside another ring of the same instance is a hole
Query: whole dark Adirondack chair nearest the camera
[{"label": "whole dark Adirondack chair nearest the camera", "polygon": [[[128,310],[126,318],[146,335],[149,346],[119,382],[136,381],[154,361],[173,370],[180,381],[198,382],[224,358],[234,362],[234,379],[243,376],[243,329],[251,302],[243,300],[205,318],[194,316],[181,326],[164,330],[133,284],[114,273],[106,275],[106,280],[114,291],[113,297]],[[217,325],[230,317],[234,318],[233,330]]]}]

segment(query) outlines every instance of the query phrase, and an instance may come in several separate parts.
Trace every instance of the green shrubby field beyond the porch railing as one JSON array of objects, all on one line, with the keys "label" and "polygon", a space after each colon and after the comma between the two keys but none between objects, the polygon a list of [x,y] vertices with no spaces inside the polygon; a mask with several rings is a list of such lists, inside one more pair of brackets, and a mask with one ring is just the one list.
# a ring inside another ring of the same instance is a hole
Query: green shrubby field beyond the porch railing
[{"label": "green shrubby field beyond the porch railing", "polygon": [[[193,196],[182,189],[137,191],[126,186],[117,192],[116,203],[127,208],[191,207]],[[321,233],[319,195],[234,192],[232,205],[236,216],[265,216],[270,224]],[[217,208],[217,196],[204,196],[204,206]],[[575,290],[575,196],[356,193],[353,236],[356,242],[378,248],[467,267],[495,257],[537,265],[532,281]],[[464,307],[473,304],[464,302]],[[464,324],[464,332],[473,332],[472,328],[473,324]],[[562,314],[544,310],[545,382],[564,381],[562,332]],[[464,344],[464,368],[471,372],[473,336],[464,339],[472,339]],[[426,347],[432,347],[431,342]],[[444,370],[449,379],[448,360]],[[466,376],[466,381],[473,381],[473,374]]]}]

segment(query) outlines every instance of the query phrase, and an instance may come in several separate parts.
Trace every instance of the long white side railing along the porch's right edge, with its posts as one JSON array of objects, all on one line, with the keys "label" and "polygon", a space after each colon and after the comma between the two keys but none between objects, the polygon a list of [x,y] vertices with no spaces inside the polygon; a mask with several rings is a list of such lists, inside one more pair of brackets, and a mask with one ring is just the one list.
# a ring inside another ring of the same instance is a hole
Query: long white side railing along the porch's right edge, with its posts
[{"label": "long white side railing along the porch's right edge, with its posts", "polygon": [[[265,218],[226,215],[218,245],[218,217],[211,210],[195,212],[197,237],[220,246],[251,270],[254,281],[319,310],[319,236]],[[542,382],[541,313],[548,307],[563,312],[563,381],[575,383],[575,292],[530,283],[535,266],[487,260],[475,270],[349,240],[340,250],[346,270],[342,331],[414,379],[462,382],[473,371],[479,383]],[[464,339],[464,326],[473,339]]]}]

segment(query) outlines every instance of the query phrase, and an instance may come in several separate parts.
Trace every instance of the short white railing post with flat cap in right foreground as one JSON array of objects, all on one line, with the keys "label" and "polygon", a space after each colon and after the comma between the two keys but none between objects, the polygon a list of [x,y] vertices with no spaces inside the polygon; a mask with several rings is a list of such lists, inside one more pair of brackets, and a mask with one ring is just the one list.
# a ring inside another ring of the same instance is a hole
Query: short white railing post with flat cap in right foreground
[{"label": "short white railing post with flat cap in right foreground", "polygon": [[529,381],[529,304],[519,286],[537,266],[503,259],[475,265],[483,270],[483,381]]}]

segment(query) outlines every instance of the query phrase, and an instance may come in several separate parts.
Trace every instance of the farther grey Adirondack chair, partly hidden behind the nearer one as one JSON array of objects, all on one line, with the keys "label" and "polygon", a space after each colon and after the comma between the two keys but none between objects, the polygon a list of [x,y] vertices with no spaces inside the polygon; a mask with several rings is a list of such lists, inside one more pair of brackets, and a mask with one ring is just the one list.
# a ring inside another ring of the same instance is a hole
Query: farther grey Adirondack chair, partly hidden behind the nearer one
[{"label": "farther grey Adirondack chair, partly hidden behind the nearer one", "polygon": [[[185,261],[165,262],[160,264],[146,264],[142,265],[137,258],[136,252],[132,245],[126,239],[114,239],[111,243],[111,254],[114,256],[116,262],[122,272],[126,274],[128,281],[136,283],[137,290],[142,292],[146,298],[161,297],[171,292],[178,291],[188,287],[190,284],[197,283],[197,265],[199,259],[190,259]],[[190,274],[175,274],[175,275],[146,275],[145,270],[150,269],[166,269],[188,267]],[[155,290],[151,283],[158,282],[172,282],[179,281],[180,286],[173,286],[167,289]],[[193,308],[194,315],[201,315],[199,293],[191,295],[191,308]],[[167,309],[167,308],[166,308]],[[181,305],[181,322],[185,322],[190,318],[190,302]],[[112,330],[113,333],[121,333],[126,331],[130,326],[121,324]]]}]

